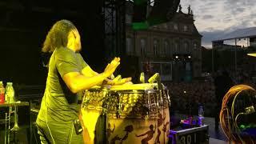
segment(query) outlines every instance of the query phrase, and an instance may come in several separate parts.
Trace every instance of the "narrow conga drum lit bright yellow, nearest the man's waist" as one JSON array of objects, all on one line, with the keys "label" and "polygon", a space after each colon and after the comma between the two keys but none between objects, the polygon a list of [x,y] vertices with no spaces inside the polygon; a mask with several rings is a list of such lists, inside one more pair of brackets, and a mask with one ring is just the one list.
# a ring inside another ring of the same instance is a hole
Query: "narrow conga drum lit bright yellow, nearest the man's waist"
[{"label": "narrow conga drum lit bright yellow, nearest the man's waist", "polygon": [[[98,122],[104,121],[102,114],[106,112],[106,104],[104,102],[106,102],[107,94],[106,87],[94,86],[90,90],[86,90],[82,98],[83,139],[86,144],[95,142],[95,132],[98,128],[96,125],[98,125]],[[103,122],[99,127],[102,134],[97,134],[98,142],[96,143],[103,142],[106,139],[103,135],[106,134],[106,130],[104,131],[106,122]]]}]

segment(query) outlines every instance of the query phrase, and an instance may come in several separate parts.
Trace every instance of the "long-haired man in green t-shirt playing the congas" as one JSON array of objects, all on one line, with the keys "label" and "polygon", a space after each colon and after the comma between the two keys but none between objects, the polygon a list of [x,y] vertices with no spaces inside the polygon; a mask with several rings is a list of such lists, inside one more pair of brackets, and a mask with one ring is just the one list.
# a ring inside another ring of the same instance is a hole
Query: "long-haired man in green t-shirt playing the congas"
[{"label": "long-haired man in green t-shirt playing the congas", "polygon": [[[42,47],[43,52],[52,53],[37,118],[42,143],[83,143],[82,134],[77,130],[78,93],[101,85],[120,64],[120,58],[114,58],[104,72],[98,74],[83,60],[79,54],[81,49],[80,35],[72,22],[60,20],[54,23]],[[130,78],[122,80],[123,83],[127,81]],[[110,80],[106,83],[114,84]]]}]

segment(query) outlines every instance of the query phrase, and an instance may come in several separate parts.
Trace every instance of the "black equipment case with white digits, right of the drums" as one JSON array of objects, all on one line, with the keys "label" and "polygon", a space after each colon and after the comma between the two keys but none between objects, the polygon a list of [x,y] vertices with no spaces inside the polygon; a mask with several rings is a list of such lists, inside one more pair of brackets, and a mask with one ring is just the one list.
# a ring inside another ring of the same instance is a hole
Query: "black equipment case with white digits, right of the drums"
[{"label": "black equipment case with white digits, right of the drums", "polygon": [[170,144],[208,144],[209,126],[204,125],[184,130],[170,130]]}]

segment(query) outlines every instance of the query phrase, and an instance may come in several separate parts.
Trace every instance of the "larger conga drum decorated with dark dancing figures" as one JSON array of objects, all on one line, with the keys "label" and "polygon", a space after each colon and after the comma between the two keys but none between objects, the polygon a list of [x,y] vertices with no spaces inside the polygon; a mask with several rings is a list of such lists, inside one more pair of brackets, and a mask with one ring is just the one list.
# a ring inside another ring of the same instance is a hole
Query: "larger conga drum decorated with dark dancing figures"
[{"label": "larger conga drum decorated with dark dancing figures", "polygon": [[[157,84],[112,86],[106,99],[108,143],[168,143],[168,93]],[[106,143],[107,143],[106,142]]]}]

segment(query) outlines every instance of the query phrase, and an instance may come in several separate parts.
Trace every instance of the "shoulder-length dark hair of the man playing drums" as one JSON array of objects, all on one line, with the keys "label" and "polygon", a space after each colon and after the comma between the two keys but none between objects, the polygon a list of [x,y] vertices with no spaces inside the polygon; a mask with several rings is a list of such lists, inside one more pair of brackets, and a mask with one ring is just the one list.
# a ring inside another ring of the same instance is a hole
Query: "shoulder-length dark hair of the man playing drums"
[{"label": "shoulder-length dark hair of the man playing drums", "polygon": [[60,20],[54,23],[48,34],[46,35],[45,42],[43,42],[42,52],[52,53],[58,47],[65,47],[68,42],[68,34],[70,30],[74,30],[76,27],[68,20]]}]

